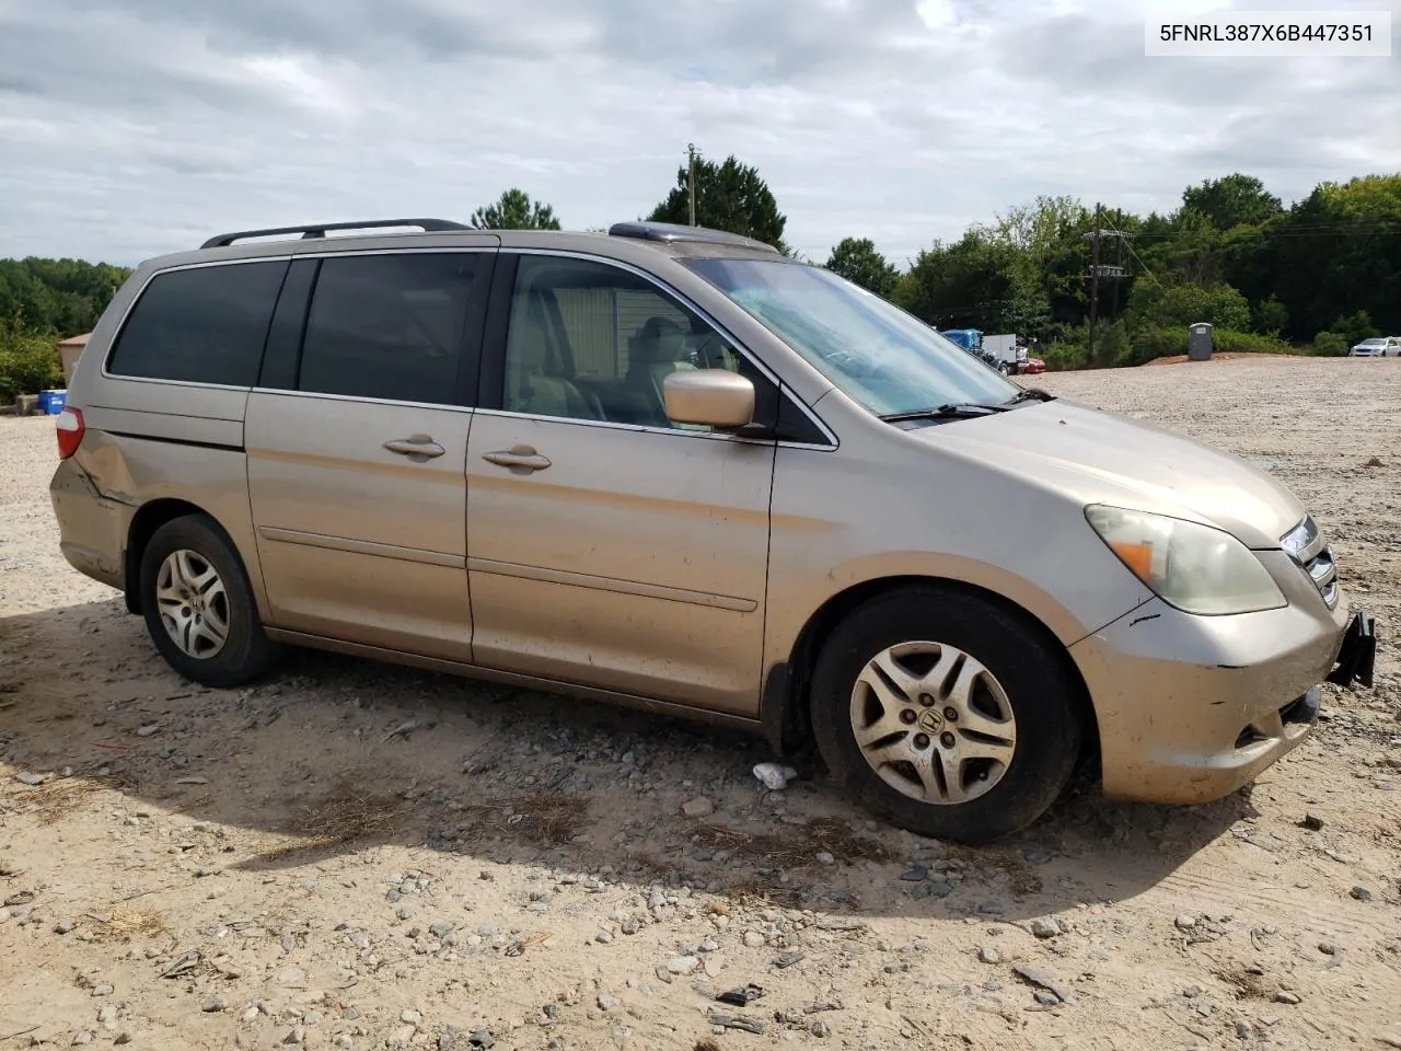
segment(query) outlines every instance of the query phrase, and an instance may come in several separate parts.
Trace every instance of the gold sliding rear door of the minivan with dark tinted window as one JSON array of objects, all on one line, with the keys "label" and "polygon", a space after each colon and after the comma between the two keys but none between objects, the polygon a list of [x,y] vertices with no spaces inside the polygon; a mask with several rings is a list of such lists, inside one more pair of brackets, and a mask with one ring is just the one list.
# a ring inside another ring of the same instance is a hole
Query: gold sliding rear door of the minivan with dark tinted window
[{"label": "gold sliding rear door of the minivan with dark tinted window", "polygon": [[307,275],[310,310],[291,311],[307,318],[300,355],[279,307],[245,425],[275,626],[471,660],[465,458],[492,261],[455,251],[294,263],[319,270]]}]

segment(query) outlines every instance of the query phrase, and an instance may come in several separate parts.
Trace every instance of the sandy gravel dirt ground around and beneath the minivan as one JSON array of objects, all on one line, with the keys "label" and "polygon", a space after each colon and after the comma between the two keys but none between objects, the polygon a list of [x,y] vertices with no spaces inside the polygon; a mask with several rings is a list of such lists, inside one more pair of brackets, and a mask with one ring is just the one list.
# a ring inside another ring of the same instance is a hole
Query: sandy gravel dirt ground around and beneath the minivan
[{"label": "sandy gravel dirt ground around and beneath the minivan", "polygon": [[1401,362],[1035,381],[1282,478],[1384,649],[1251,789],[1086,783],[981,851],[584,702],[193,688],[62,561],[52,422],[0,419],[0,1051],[1401,1048]]}]

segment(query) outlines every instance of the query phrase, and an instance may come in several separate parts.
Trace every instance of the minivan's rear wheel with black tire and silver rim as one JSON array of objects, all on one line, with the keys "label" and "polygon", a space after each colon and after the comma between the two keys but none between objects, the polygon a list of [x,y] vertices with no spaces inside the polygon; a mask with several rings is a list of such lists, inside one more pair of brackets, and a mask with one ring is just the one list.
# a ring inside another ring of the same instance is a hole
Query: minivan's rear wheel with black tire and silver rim
[{"label": "minivan's rear wheel with black tire and silver rim", "polygon": [[226,689],[272,667],[242,559],[205,514],[156,530],[142,554],[142,612],[165,661],[185,678]]}]

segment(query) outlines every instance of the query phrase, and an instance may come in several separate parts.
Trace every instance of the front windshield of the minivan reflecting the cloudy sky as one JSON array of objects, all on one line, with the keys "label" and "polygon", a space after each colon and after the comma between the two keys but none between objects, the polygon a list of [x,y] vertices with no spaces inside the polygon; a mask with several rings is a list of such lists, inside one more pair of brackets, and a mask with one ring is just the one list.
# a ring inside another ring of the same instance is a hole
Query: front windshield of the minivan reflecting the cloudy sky
[{"label": "front windshield of the minivan reflecting the cloudy sky", "polygon": [[929,325],[831,270],[780,259],[688,259],[846,395],[877,416],[996,405],[1020,392]]}]

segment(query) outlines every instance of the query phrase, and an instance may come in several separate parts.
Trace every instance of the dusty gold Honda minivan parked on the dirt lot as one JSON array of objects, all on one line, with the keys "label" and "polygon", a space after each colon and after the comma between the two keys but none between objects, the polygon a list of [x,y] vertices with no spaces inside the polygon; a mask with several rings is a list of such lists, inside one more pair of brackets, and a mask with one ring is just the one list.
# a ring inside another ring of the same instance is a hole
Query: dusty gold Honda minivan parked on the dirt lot
[{"label": "dusty gold Honda minivan parked on the dirt lot", "polygon": [[64,556],[189,680],[315,646],[700,716],[925,835],[1082,762],[1220,797],[1372,681],[1269,475],[713,230],[216,237],[120,289],[57,441]]}]

